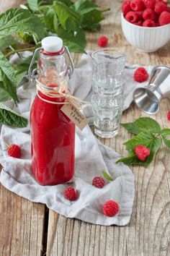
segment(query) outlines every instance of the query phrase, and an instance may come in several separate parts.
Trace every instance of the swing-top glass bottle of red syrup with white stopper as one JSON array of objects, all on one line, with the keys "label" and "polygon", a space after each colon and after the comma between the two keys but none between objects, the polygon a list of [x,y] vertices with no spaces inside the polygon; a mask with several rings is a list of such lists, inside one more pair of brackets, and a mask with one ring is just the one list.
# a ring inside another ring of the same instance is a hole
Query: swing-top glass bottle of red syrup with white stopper
[{"label": "swing-top glass bottle of red syrup with white stopper", "polygon": [[75,124],[61,111],[73,62],[71,68],[66,54],[71,56],[58,37],[44,38],[37,52],[38,67],[32,72],[37,72],[37,95],[30,112],[32,175],[42,185],[63,184],[74,174]]}]

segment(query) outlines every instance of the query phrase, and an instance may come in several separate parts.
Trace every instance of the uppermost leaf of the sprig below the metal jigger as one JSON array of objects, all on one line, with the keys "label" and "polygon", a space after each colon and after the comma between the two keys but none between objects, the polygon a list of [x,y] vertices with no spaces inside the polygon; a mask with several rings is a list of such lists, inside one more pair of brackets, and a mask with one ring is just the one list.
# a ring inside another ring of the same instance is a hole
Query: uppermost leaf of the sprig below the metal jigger
[{"label": "uppermost leaf of the sprig below the metal jigger", "polygon": [[161,127],[158,122],[150,117],[140,117],[133,123],[121,124],[128,132],[138,135],[140,132],[160,133]]}]

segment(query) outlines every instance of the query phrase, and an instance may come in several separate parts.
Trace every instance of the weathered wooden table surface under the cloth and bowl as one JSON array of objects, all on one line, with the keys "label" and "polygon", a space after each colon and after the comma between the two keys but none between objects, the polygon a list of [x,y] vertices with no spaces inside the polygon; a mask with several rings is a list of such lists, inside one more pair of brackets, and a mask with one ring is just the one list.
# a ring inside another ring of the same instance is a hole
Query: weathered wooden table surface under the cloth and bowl
[{"label": "weathered wooden table surface under the cloth and bowl", "polygon": [[[0,12],[17,7],[22,0],[0,1]],[[127,61],[141,65],[170,65],[170,42],[153,54],[135,50],[125,40],[120,27],[120,1],[99,0],[102,7],[111,7],[102,29],[87,33],[88,49],[97,49],[97,38],[107,35],[109,46],[124,51]],[[115,18],[116,17],[116,18]],[[74,55],[78,61],[79,54]],[[161,127],[170,128],[166,112],[169,100],[161,101],[161,110],[152,116]],[[122,122],[146,116],[132,104],[122,115]],[[121,128],[117,137],[102,142],[125,155],[122,142],[130,134]],[[65,218],[45,205],[14,195],[0,187],[1,235],[3,256],[168,256],[170,255],[170,152],[164,146],[148,168],[134,167],[135,202],[128,226],[98,226]]]}]

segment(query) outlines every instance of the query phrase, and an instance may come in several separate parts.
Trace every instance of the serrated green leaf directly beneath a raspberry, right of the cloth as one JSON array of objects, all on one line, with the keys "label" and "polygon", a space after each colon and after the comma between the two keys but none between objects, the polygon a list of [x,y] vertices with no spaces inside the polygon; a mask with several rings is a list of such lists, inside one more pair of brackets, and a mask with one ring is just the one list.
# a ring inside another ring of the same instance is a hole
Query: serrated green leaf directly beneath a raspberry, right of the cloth
[{"label": "serrated green leaf directly beneath a raspberry, right of the cloth", "polygon": [[[126,150],[130,153],[127,158],[121,158],[118,162],[123,162],[125,164],[138,164],[147,167],[153,160],[153,156],[156,154],[161,146],[161,139],[155,137],[151,132],[140,132],[137,136],[133,137],[131,140],[123,143],[126,146]],[[150,149],[151,153],[146,158],[146,161],[140,161],[135,156],[135,147],[137,145],[143,145]]]}]

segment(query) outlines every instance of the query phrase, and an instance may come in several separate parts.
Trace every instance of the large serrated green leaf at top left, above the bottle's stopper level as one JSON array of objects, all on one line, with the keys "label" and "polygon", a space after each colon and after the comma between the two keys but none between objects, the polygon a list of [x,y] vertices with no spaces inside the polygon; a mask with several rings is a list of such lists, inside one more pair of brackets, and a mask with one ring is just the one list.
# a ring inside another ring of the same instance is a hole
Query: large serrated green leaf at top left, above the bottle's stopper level
[{"label": "large serrated green leaf at top left, above the bottle's stopper level", "polygon": [[0,39],[19,32],[32,33],[38,39],[45,35],[42,22],[27,9],[9,9],[0,15]]}]

